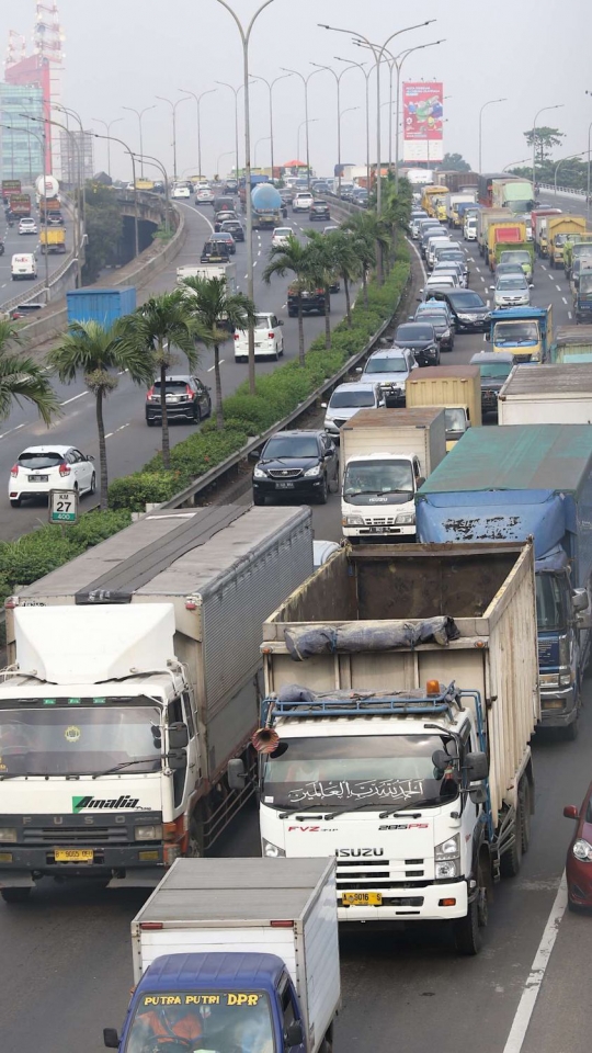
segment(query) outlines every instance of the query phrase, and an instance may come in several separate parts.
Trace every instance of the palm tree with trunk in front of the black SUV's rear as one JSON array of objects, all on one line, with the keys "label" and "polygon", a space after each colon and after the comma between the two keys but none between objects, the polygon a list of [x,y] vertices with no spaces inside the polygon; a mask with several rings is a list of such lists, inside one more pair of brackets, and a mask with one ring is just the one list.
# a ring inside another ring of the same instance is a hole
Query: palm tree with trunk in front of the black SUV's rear
[{"label": "palm tree with trunk in front of the black SUV's rear", "polygon": [[178,359],[178,350],[186,356],[190,370],[195,369],[200,361],[195,340],[200,336],[200,327],[190,314],[185,293],[181,288],[175,288],[172,293],[150,296],[146,303],[136,308],[134,314],[127,315],[124,319],[123,340],[125,346],[137,351],[140,349],[148,350],[151,354],[152,371],[156,369],[160,373],[162,466],[167,471],[171,467],[166,397],[167,373]]}]

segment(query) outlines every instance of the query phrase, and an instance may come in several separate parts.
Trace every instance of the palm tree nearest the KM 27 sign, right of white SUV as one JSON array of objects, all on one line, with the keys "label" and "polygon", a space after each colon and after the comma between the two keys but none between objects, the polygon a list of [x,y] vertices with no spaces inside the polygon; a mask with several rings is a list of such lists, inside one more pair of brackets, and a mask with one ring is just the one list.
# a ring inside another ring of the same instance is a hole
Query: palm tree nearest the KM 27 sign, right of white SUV
[{"label": "palm tree nearest the KM 27 sign, right of white SUV", "polygon": [[59,347],[54,348],[47,356],[62,383],[70,384],[79,373],[83,373],[84,383],[94,395],[103,511],[107,507],[109,485],[103,401],[117,387],[118,372],[126,370],[135,384],[149,384],[153,376],[147,348],[126,346],[121,332],[121,321],[107,327],[98,321],[75,321]]}]

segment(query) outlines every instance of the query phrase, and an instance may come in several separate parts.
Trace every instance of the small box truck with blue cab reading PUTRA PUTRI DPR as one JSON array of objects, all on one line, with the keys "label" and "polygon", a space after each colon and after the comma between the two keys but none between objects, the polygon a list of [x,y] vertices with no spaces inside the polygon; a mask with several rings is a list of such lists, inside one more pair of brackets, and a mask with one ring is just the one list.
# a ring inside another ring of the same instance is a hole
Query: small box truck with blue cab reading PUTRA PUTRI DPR
[{"label": "small box truck with blue cab reading PUTRA PUTRI DPR", "polygon": [[110,1049],[183,1034],[195,1042],[179,1050],[332,1050],[334,858],[178,860],[132,921],[132,950],[136,986]]}]

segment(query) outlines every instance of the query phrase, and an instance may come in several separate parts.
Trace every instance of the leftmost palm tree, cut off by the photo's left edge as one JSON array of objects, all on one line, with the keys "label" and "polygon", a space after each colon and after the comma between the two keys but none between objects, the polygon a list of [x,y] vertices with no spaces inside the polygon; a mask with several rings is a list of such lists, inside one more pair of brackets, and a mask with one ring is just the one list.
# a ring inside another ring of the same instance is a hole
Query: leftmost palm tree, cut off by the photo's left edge
[{"label": "leftmost palm tree, cut off by the photo's left edge", "polygon": [[59,412],[56,394],[43,366],[26,355],[11,350],[19,343],[19,330],[8,319],[0,321],[0,420],[10,416],[12,404],[23,401],[36,407],[42,420],[49,424]]}]

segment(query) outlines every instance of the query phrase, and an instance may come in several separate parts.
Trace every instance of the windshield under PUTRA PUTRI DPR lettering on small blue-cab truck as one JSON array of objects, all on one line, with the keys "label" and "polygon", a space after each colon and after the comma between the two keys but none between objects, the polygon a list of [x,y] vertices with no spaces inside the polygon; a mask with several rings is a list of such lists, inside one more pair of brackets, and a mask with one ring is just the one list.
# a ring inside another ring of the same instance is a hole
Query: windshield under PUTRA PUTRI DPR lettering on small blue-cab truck
[{"label": "windshield under PUTRA PUTRI DPR lettering on small blue-cab truck", "polygon": [[267,995],[243,989],[143,992],[125,1053],[157,1049],[170,1053],[274,1053]]}]

